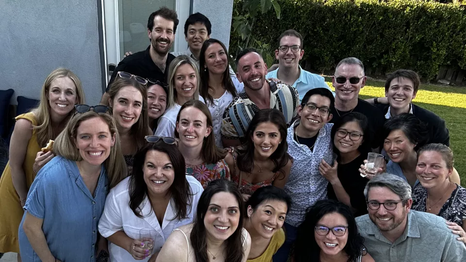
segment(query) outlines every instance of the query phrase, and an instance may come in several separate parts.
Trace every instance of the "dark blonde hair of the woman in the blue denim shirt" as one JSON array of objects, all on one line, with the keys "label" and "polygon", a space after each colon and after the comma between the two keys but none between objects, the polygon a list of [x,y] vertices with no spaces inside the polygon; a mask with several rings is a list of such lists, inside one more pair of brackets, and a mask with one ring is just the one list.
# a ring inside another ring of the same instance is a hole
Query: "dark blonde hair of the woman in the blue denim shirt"
[{"label": "dark blonde hair of the woman in the blue denim shirt", "polygon": [[103,163],[107,172],[108,180],[110,182],[110,188],[115,187],[121,180],[125,179],[128,175],[125,159],[120,146],[120,136],[116,130],[115,120],[112,116],[106,113],[96,113],[89,111],[84,114],[77,114],[73,116],[67,123],[65,130],[63,130],[55,139],[53,144],[53,152],[56,155],[62,156],[72,161],[82,161],[83,158],[79,153],[79,149],[76,147],[78,128],[81,122],[99,117],[105,123],[112,137],[115,135],[115,145],[110,148],[110,155]]}]

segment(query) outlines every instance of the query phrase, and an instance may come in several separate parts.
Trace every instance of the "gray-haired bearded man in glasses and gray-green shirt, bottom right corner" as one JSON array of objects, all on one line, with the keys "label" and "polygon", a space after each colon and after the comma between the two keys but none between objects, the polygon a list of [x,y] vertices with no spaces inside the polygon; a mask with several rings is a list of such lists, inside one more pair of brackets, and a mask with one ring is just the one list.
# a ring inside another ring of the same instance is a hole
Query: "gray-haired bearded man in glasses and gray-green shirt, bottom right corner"
[{"label": "gray-haired bearded man in glasses and gray-green shirt, bottom right corner", "polygon": [[356,218],[367,252],[375,261],[464,262],[466,246],[446,220],[411,210],[411,186],[392,174],[377,175],[364,189],[366,215]]}]

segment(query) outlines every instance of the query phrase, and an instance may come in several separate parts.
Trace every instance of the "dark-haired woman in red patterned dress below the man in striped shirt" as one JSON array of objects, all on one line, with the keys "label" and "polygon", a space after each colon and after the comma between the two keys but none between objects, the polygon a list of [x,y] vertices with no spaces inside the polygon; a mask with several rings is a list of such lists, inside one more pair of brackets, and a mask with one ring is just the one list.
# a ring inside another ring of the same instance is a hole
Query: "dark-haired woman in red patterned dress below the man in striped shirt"
[{"label": "dark-haired woman in red patterned dress below the man in striped shirt", "polygon": [[292,158],[286,142],[286,122],[282,112],[262,109],[252,118],[246,143],[230,148],[225,161],[232,180],[238,184],[245,201],[256,189],[274,185],[285,186],[290,175]]}]

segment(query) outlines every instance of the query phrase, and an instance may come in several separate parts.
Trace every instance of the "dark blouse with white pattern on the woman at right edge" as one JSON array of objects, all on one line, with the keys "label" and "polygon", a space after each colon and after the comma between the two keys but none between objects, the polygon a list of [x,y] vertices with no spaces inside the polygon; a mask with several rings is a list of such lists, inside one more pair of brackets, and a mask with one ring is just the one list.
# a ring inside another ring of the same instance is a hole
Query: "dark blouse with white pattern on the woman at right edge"
[{"label": "dark blouse with white pattern on the woman at right edge", "polygon": [[[411,209],[427,212],[427,190],[420,183],[414,187],[412,197],[413,206]],[[466,189],[460,185],[456,185],[456,189],[453,190],[453,193],[451,193],[451,196],[437,215],[445,218],[447,221],[463,226],[463,220],[466,219]]]}]

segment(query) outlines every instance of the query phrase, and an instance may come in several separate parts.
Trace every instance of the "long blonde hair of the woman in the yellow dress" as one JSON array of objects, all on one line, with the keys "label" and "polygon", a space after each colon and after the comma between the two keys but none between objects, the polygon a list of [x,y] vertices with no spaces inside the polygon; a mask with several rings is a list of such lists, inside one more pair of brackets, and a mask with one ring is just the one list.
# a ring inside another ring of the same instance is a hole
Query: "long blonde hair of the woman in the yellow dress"
[{"label": "long blonde hair of the woman in the yellow dress", "polygon": [[[49,91],[51,82],[60,77],[68,77],[71,79],[71,81],[74,82],[74,85],[76,86],[76,103],[84,103],[83,85],[81,84],[79,78],[73,72],[71,72],[71,70],[60,67],[50,73],[42,85],[39,105],[31,110],[38,124],[37,126],[33,126],[33,129],[35,129],[37,132],[37,142],[41,147],[45,146],[50,139],[53,139],[53,130],[50,120]],[[73,115],[73,112],[74,109],[69,112],[65,121],[67,121],[69,117]]]}]

